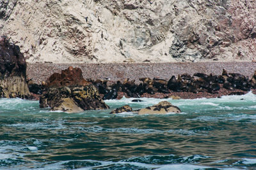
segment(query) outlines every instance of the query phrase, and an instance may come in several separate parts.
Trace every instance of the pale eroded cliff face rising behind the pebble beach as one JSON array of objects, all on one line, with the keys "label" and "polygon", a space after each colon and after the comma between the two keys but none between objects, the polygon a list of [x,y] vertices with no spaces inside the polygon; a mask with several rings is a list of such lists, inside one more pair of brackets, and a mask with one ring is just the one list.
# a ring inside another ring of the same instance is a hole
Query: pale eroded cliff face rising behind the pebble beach
[{"label": "pale eroded cliff face rising behind the pebble beach", "polygon": [[28,62],[252,60],[254,0],[3,0],[0,34]]}]

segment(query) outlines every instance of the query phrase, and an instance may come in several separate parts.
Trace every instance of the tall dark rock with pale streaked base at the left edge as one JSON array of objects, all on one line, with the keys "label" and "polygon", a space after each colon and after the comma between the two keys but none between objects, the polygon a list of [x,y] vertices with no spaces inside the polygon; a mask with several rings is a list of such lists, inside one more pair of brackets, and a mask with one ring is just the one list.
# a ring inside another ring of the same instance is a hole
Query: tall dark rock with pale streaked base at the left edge
[{"label": "tall dark rock with pale streaked base at the left edge", "polygon": [[19,46],[0,37],[0,97],[30,97],[26,83],[26,61]]}]

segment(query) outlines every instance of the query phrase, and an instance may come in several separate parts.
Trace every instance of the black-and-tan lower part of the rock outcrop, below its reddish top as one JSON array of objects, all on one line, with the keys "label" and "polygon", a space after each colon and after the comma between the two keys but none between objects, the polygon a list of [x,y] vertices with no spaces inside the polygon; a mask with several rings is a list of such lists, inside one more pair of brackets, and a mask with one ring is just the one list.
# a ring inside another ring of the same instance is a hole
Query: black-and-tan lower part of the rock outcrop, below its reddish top
[{"label": "black-and-tan lower part of the rock outcrop, below its reddish top", "polygon": [[67,113],[109,108],[93,85],[49,87],[40,97],[40,108],[47,107],[53,111],[61,110]]}]

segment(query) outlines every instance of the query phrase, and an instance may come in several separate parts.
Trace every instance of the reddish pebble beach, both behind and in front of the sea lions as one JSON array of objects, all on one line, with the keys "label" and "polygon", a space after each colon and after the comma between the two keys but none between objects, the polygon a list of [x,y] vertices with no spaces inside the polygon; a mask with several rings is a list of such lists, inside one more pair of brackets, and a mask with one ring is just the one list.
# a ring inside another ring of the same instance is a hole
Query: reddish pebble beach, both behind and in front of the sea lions
[{"label": "reddish pebble beach, both behind and in front of the sea lions", "polygon": [[[195,73],[205,73],[221,75],[223,69],[228,73],[239,73],[252,78],[256,69],[255,62],[179,62],[179,63],[142,63],[142,64],[52,64],[52,63],[35,63],[28,64],[27,76],[35,83],[40,84],[47,80],[52,73],[60,73],[62,69],[68,66],[80,67],[83,71],[83,77],[87,80],[108,80],[108,85],[116,83],[116,81],[124,82],[126,78],[135,80],[137,85],[141,83],[139,80],[143,77],[159,78],[168,81],[172,75],[180,74],[193,75]],[[254,92],[254,90],[252,89]],[[164,94],[156,92],[154,94],[142,94],[141,97],[157,97],[168,98],[178,96],[182,99],[195,99],[200,97],[221,97],[230,94],[246,94],[248,91],[241,89],[228,90],[220,85],[218,93],[209,93],[206,91],[194,92],[170,92]],[[124,92],[118,92],[118,98],[127,96]]]}]

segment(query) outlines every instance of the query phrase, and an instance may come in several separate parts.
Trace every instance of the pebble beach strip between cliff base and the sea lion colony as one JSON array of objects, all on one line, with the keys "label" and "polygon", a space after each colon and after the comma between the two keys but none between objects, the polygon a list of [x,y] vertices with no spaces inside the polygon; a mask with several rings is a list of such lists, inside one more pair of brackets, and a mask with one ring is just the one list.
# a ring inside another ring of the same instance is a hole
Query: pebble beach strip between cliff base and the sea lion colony
[{"label": "pebble beach strip between cliff base and the sea lion colony", "polygon": [[125,78],[140,83],[139,78],[161,78],[169,80],[178,74],[221,74],[222,69],[228,73],[239,73],[252,77],[256,69],[256,62],[168,62],[168,63],[113,63],[113,64],[54,64],[28,63],[27,76],[35,83],[46,81],[53,73],[61,73],[67,67],[79,67],[85,79],[106,79],[110,81],[124,81]]}]

